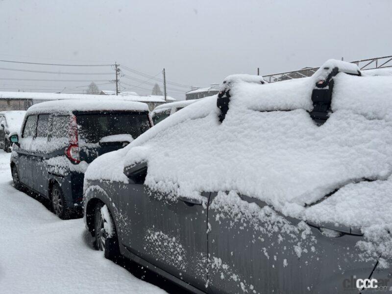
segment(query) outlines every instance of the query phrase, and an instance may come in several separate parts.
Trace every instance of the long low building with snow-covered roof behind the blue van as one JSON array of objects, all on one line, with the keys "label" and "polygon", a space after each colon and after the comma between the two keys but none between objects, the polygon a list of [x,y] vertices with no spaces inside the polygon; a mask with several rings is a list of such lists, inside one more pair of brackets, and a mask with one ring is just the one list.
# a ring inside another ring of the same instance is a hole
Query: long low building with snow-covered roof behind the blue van
[{"label": "long low building with snow-covered roof behind the blue van", "polygon": [[[114,91],[113,91],[114,92]],[[131,92],[135,93],[135,92]],[[114,93],[115,94],[115,93]],[[135,93],[136,94],[136,93]],[[107,94],[104,94],[107,95]],[[108,95],[108,99],[112,98]],[[31,105],[50,100],[63,99],[102,99],[101,95],[90,94],[63,94],[63,93],[32,93],[32,92],[0,92],[0,111],[4,110],[27,110]],[[163,96],[139,96],[133,94],[121,94],[116,96],[118,99],[145,102],[150,110],[156,106],[166,102],[175,101],[172,97],[167,97],[167,101]]]}]

